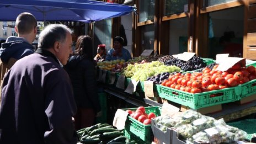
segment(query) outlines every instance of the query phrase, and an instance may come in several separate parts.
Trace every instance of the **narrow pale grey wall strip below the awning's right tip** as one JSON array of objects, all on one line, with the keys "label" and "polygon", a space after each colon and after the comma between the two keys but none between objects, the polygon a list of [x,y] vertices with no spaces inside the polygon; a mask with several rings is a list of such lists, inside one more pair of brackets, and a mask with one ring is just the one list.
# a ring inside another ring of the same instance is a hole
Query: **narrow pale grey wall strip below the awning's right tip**
[{"label": "narrow pale grey wall strip below the awning's right tip", "polygon": [[127,38],[127,46],[124,46],[125,49],[129,50],[130,54],[131,52],[131,45],[132,45],[132,14],[124,15],[121,17],[121,24],[124,26],[125,34]]}]

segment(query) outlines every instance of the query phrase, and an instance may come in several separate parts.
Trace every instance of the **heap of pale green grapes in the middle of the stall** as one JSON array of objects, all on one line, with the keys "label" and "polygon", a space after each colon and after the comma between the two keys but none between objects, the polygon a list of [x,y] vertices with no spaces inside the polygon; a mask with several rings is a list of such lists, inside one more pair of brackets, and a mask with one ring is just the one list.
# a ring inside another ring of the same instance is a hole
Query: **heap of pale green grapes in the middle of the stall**
[{"label": "heap of pale green grapes in the middle of the stall", "polygon": [[135,81],[146,81],[148,77],[154,76],[163,72],[179,72],[180,68],[177,66],[166,66],[162,62],[152,61],[150,63],[135,63],[134,65],[127,65],[122,72],[125,77],[134,79]]}]

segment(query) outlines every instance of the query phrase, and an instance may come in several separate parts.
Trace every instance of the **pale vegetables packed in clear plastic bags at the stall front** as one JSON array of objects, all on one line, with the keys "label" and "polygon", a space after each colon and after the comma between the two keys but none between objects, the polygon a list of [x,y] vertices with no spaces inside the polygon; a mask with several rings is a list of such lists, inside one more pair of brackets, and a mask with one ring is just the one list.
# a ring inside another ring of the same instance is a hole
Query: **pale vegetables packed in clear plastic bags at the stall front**
[{"label": "pale vegetables packed in clear plastic bags at the stall front", "polygon": [[203,143],[221,143],[242,141],[247,133],[237,127],[226,125],[223,119],[215,120],[193,110],[186,110],[179,116],[158,116],[154,119],[158,129],[166,131],[171,128],[186,143],[200,141]]}]

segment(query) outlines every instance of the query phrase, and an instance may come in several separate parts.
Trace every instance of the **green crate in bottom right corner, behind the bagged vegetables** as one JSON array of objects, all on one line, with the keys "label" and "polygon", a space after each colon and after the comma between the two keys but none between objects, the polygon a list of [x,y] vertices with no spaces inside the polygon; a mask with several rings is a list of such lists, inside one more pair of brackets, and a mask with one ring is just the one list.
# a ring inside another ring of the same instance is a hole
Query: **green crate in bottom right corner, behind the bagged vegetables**
[{"label": "green crate in bottom right corner, behind the bagged vegetables", "polygon": [[238,129],[241,129],[245,132],[247,132],[247,140],[251,140],[252,137],[256,136],[256,119],[246,119],[241,121],[235,121],[235,122],[229,122],[227,125],[237,127]]}]

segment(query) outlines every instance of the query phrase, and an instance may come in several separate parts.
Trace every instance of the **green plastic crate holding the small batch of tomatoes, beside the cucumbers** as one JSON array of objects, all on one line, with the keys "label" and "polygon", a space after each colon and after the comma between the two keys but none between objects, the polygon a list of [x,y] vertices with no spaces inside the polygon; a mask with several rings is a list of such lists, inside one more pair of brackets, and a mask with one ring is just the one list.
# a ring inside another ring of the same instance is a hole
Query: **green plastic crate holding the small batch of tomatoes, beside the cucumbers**
[{"label": "green plastic crate holding the small batch of tomatoes, beside the cucumbers", "polygon": [[[130,108],[131,111],[136,111],[137,108]],[[127,110],[127,109],[122,109]],[[153,112],[156,114],[156,116],[161,115],[161,107],[159,106],[149,106],[145,107],[146,114],[149,114]],[[143,141],[144,142],[152,142],[153,140],[153,132],[151,129],[151,125],[143,125],[140,121],[137,121],[136,119],[132,118],[131,116],[128,116],[126,122],[125,122],[125,131],[129,135],[135,135],[135,141]],[[134,137],[134,136],[132,136]]]}]

